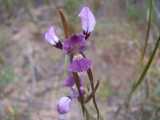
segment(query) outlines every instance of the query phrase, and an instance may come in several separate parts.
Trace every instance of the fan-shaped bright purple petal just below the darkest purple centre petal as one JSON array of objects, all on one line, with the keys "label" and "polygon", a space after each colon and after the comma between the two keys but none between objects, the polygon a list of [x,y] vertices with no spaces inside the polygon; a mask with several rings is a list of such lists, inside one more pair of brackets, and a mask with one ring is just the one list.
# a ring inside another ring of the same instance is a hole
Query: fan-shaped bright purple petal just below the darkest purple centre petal
[{"label": "fan-shaped bright purple petal just below the darkest purple centre petal", "polygon": [[81,58],[73,60],[69,65],[68,70],[70,72],[84,72],[91,67],[91,61],[87,58]]}]

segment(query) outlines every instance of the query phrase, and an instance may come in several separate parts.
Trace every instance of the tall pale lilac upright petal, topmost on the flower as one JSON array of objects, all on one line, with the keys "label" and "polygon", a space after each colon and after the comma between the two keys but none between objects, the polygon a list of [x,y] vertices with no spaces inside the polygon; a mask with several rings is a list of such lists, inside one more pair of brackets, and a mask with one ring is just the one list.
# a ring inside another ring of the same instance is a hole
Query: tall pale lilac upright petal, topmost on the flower
[{"label": "tall pale lilac upright petal, topmost on the flower", "polygon": [[78,16],[81,19],[83,31],[86,33],[92,32],[96,24],[96,19],[92,11],[88,7],[83,7]]}]

